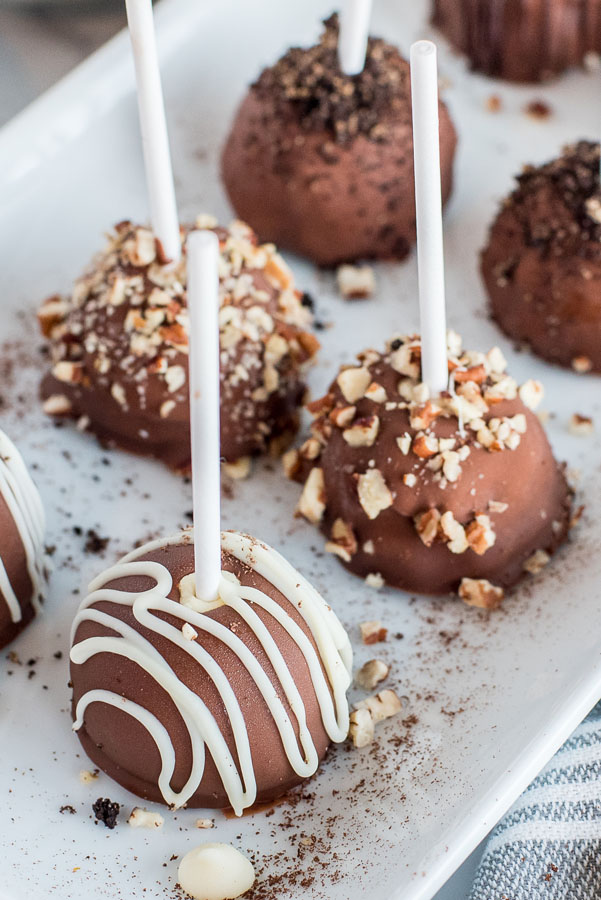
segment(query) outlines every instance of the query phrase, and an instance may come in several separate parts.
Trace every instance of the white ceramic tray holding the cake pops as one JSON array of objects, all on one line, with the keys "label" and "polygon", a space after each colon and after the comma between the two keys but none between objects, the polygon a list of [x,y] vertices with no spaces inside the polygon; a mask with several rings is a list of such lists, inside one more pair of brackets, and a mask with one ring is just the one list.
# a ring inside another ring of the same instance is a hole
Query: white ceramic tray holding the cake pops
[{"label": "white ceramic tray holding the cake pops", "polygon": [[[229,217],[217,159],[235,103],[263,64],[290,43],[316,36],[329,7],[327,0],[160,5],[183,218],[200,210]],[[379,0],[375,7],[374,31],[405,51],[429,34],[425,3]],[[133,796],[103,775],[92,785],[80,782],[88,764],[68,713],[67,640],[76,592],[134,541],[185,524],[189,486],[158,464],[104,453],[73,429],[55,429],[35,399],[43,366],[38,301],[69,288],[111,223],[147,215],[126,36],[1,133],[0,338],[10,343],[0,357],[0,424],[35,468],[48,542],[56,547],[45,614],[14,645],[22,664],[1,663],[0,891],[9,900],[177,896],[171,857],[207,834],[253,855],[262,898],[427,900],[601,696],[599,438],[567,430],[573,412],[593,415],[601,428],[601,382],[514,353],[487,319],[476,269],[477,249],[512,173],[587,136],[597,79],[573,73],[544,89],[511,88],[467,73],[444,46],[441,70],[460,138],[445,231],[450,323],[468,346],[499,343],[516,377],[545,382],[549,432],[558,455],[581,471],[587,513],[572,546],[548,571],[487,615],[459,601],[413,601],[367,589],[321,552],[309,525],[292,518],[298,488],[274,464],[257,466],[252,479],[226,496],[225,525],[282,550],[323,590],[356,645],[365,618],[381,618],[391,635],[403,634],[391,637],[383,652],[409,707],[402,721],[381,729],[377,746],[335,751],[294,805],[242,821],[218,813],[209,833],[195,829],[198,813],[186,810],[167,812],[160,832],[130,829],[124,820]],[[493,92],[503,102],[496,115],[485,108]],[[546,121],[523,112],[537,98],[553,110]],[[333,323],[321,333],[323,351],[311,374],[315,392],[355,351],[382,346],[392,330],[416,327],[414,257],[379,266],[377,295],[355,304],[337,297],[332,275],[292,263],[300,285],[317,298],[318,317]],[[84,554],[85,535],[74,528],[110,536],[104,558]],[[366,655],[357,646],[358,662]],[[124,804],[114,831],[94,824],[91,803],[100,795]],[[75,813],[61,814],[64,805]],[[313,880],[295,884],[295,869]],[[273,889],[270,876],[281,877]]]}]

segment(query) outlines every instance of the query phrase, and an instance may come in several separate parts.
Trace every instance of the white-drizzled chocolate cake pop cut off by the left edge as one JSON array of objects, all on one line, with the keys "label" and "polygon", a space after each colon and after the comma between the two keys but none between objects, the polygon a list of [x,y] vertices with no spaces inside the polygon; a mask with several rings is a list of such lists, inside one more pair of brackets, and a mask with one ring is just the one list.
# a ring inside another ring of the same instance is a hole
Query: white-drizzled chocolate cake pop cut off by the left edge
[{"label": "white-drizzled chocolate cake pop cut off by the left edge", "polygon": [[33,619],[44,589],[44,509],[21,454],[0,431],[0,648]]}]

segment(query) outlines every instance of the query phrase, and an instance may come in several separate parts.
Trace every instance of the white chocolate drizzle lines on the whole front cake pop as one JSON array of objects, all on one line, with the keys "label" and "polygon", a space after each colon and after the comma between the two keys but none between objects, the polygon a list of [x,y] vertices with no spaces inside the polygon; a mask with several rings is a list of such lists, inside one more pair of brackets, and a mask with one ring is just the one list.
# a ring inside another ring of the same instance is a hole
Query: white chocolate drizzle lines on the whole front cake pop
[{"label": "white chocolate drizzle lines on the whole front cake pop", "polygon": [[[246,723],[225,673],[203,648],[201,633],[204,631],[221,640],[236,654],[252,676],[276,724],[290,766],[301,778],[313,775],[319,764],[317,750],[306,722],[305,706],[282,653],[253,606],[261,607],[273,617],[301,650],[309,667],[324,729],[334,742],[343,741],[348,733],[346,691],[351,679],[352,651],[348,636],[332,609],[276,550],[248,535],[222,532],[223,550],[263,576],[283,594],[304,619],[317,646],[316,652],[305,632],[283,606],[257,588],[241,585],[232,573],[222,572],[218,602],[235,610],[261,643],[296,719],[299,732],[297,740],[294,726],[275,685],[244,642],[220,622],[199,611],[202,607],[192,602],[194,598],[189,579],[182,579],[182,582],[186,581],[182,591],[186,598],[184,605],[168,597],[173,587],[169,570],[162,563],[140,559],[150,551],[183,541],[190,541],[190,532],[152,541],[124,556],[119,563],[92,581],[90,593],[82,602],[73,622],[71,642],[73,644],[76,631],[84,621],[103,625],[112,634],[90,637],[73,645],[71,660],[76,665],[81,665],[98,653],[123,656],[151,675],[169,694],[188,729],[192,745],[192,768],[186,784],[178,792],[171,787],[175,748],[164,725],[151,712],[128,698],[104,689],[88,691],[77,703],[73,728],[78,730],[82,727],[85,711],[94,702],[108,703],[137,719],[147,729],[159,751],[161,772],[158,785],[165,802],[173,807],[183,806],[200,785],[205,767],[205,748],[208,748],[232,809],[237,815],[241,815],[244,809],[252,806],[257,795]],[[105,587],[111,581],[132,575],[146,576],[155,584],[139,593]],[[164,657],[142,634],[116,616],[97,609],[96,604],[102,601],[129,606],[140,625],[167,638],[189,654],[191,662],[193,660],[204,669],[219,691],[227,712],[239,767],[213,714],[201,698],[180,681]],[[153,614],[158,611],[169,613],[181,624],[176,627],[165,622]],[[198,640],[188,640],[182,634],[182,627],[186,622],[198,633]]]}]

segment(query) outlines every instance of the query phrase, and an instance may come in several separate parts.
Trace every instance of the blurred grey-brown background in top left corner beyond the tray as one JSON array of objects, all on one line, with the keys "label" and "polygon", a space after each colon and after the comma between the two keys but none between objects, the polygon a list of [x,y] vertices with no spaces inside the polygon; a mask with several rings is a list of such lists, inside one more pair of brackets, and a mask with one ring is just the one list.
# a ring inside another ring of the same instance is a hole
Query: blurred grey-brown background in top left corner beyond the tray
[{"label": "blurred grey-brown background in top left corner beyond the tray", "polygon": [[122,0],[0,0],[0,126],[124,25]]}]

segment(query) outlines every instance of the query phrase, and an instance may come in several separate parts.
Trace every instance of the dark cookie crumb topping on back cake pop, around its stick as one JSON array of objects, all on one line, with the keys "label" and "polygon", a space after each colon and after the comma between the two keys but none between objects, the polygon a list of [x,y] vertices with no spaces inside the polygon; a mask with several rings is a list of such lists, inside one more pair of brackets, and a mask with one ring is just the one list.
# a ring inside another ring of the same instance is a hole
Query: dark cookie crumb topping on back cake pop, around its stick
[{"label": "dark cookie crumb topping on back cake pop, around its stick", "polygon": [[345,75],[338,62],[338,16],[324,21],[319,43],[292,47],[265,69],[252,85],[260,96],[273,98],[276,109],[289,115],[292,107],[307,131],[326,129],[343,144],[363,134],[383,141],[385,120],[403,107],[409,115],[409,67],[396,47],[369,38],[365,67]]}]

